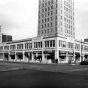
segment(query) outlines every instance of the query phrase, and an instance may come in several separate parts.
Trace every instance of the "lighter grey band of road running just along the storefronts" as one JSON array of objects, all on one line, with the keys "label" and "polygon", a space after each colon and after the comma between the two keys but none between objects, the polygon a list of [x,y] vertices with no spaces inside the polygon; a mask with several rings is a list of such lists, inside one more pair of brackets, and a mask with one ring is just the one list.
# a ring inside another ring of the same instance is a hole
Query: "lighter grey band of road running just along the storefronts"
[{"label": "lighter grey band of road running just along the storefronts", "polygon": [[50,72],[75,72],[88,70],[88,65],[63,65],[63,64],[39,64],[39,63],[19,63],[19,62],[0,62],[0,65],[10,67],[20,67],[26,69],[50,71]]}]

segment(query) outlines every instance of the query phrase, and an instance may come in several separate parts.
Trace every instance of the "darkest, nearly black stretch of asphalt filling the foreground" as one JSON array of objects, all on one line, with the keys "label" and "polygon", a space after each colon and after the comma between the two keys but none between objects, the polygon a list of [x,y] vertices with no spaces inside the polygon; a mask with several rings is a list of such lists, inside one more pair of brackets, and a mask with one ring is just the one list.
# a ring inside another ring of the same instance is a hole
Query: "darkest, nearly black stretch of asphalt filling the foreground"
[{"label": "darkest, nearly black stretch of asphalt filling the foreground", "polygon": [[0,88],[88,88],[88,78],[35,70],[1,72]]}]

